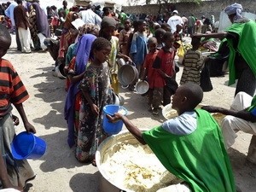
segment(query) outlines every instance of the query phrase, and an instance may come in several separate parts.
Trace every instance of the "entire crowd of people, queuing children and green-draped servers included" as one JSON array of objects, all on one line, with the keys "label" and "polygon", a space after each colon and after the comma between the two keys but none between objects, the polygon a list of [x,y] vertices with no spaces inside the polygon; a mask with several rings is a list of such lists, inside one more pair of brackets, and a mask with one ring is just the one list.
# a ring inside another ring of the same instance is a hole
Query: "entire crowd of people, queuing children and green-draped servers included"
[{"label": "entire crowd of people, queuing children and green-draped servers included", "polygon": [[[115,113],[113,117],[108,116],[109,120],[123,120],[127,129],[140,143],[147,143],[153,149],[168,171],[183,179],[184,183],[177,191],[236,191],[226,148],[235,143],[237,131],[256,135],[256,61],[253,57],[256,41],[246,48],[250,40],[245,38],[250,35],[256,40],[256,24],[255,21],[242,17],[241,11],[241,5],[237,3],[225,9],[233,24],[226,32],[220,33],[212,33],[214,16],[210,19],[203,16],[200,21],[202,24],[199,25],[196,24],[198,20],[194,15],[189,18],[180,17],[177,10],[173,10],[172,16],[166,20],[150,16],[142,20],[139,17],[131,18],[124,11],[117,15],[110,8],[101,11],[99,7],[91,5],[86,8],[67,9],[66,1],[63,1],[61,9],[50,6],[45,13],[38,1],[26,3],[24,6],[21,0],[15,0],[5,8],[4,14],[11,20],[13,30],[10,32],[15,33],[17,49],[21,52],[50,49],[45,46],[44,40],[57,36],[59,46],[55,65],[63,66],[63,75],[66,77],[64,118],[68,128],[67,143],[70,148],[75,147],[77,160],[96,166],[96,149],[109,137],[102,129],[103,107],[114,103],[113,93],[119,94],[117,60],[122,58],[127,63],[134,63],[139,79],[148,81],[148,110],[153,115],[159,115],[160,107],[171,103],[173,97],[172,108],[177,110],[179,116],[146,132],[139,131],[119,113]],[[29,177],[21,178],[20,172],[16,172],[16,160],[10,150],[10,143],[15,137],[12,105],[18,109],[26,131],[36,131],[26,119],[22,107],[22,102],[28,98],[26,89],[15,68],[9,61],[2,59],[11,42],[8,27],[1,25],[0,28],[0,67],[10,69],[4,77],[1,75],[0,81],[11,82],[13,87],[9,88],[9,93],[1,92],[1,150],[8,169],[13,170],[13,174],[9,175],[11,182],[23,188],[35,176],[26,160],[18,165],[26,164],[24,170]],[[192,41],[190,49],[183,53],[183,74],[179,82],[181,86],[178,87],[176,73],[179,72],[179,66],[175,56],[180,52],[183,37],[186,35]],[[242,105],[241,108],[231,106],[230,110],[211,106],[204,107],[204,110],[195,110],[203,96],[201,70],[206,58],[201,54],[201,46],[205,44],[202,38],[204,41],[208,38],[221,38],[228,42],[230,84],[238,79],[235,95],[240,98],[235,98],[234,103],[246,100],[247,95],[252,102]],[[15,84],[19,84],[19,89]],[[133,90],[134,85],[135,83],[129,84],[127,91]],[[0,88],[5,88],[5,85]],[[207,111],[228,115],[220,125],[221,128]],[[11,133],[5,130],[6,124]],[[3,136],[9,137],[9,140],[3,141]],[[253,136],[251,153],[248,156],[248,160],[253,163],[256,162],[254,140]],[[172,141],[178,144],[173,145]],[[204,155],[198,156],[201,153]],[[197,162],[196,165],[191,163],[194,161]],[[23,183],[20,183],[20,179],[23,179]],[[6,186],[11,185],[3,183],[3,187]]]}]

